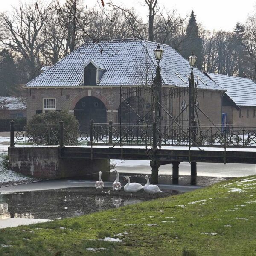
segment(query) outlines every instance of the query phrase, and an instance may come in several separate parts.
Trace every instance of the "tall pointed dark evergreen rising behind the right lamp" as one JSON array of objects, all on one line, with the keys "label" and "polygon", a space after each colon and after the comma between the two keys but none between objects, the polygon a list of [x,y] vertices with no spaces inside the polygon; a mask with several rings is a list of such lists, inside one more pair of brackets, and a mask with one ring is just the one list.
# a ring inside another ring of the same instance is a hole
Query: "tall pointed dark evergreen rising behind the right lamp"
[{"label": "tall pointed dark evergreen rising behind the right lamp", "polygon": [[196,67],[201,70],[203,66],[203,41],[199,35],[196,15],[193,10],[186,27],[186,35],[183,41],[183,57],[187,59],[192,52],[194,52],[195,56],[198,58]]}]

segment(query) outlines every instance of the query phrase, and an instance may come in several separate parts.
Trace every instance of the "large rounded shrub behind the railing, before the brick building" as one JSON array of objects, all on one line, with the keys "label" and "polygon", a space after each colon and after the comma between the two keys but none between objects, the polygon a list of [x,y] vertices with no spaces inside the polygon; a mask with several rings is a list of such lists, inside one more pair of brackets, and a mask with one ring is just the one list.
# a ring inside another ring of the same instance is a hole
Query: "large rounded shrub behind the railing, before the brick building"
[{"label": "large rounded shrub behind the railing, before the brick building", "polygon": [[58,145],[60,121],[64,122],[64,143],[76,143],[79,122],[67,110],[49,111],[48,113],[32,116],[27,127],[29,142],[33,144]]}]

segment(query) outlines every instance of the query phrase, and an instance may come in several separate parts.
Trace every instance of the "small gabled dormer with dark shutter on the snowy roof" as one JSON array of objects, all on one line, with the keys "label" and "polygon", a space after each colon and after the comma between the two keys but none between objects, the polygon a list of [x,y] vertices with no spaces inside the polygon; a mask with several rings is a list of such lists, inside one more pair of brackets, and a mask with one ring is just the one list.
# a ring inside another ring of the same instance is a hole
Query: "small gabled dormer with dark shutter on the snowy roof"
[{"label": "small gabled dormer with dark shutter on the snowy roof", "polygon": [[97,85],[105,73],[105,67],[95,61],[88,61],[84,66],[84,85]]}]

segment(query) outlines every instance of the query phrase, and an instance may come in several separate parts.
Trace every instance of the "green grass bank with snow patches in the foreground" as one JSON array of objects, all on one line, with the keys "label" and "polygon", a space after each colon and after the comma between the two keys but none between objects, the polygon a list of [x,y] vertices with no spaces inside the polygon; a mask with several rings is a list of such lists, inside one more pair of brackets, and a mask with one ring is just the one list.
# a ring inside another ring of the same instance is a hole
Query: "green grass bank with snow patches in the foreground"
[{"label": "green grass bank with snow patches in the foreground", "polygon": [[233,179],[119,209],[0,230],[0,255],[250,256],[256,255],[255,213],[256,176]]}]

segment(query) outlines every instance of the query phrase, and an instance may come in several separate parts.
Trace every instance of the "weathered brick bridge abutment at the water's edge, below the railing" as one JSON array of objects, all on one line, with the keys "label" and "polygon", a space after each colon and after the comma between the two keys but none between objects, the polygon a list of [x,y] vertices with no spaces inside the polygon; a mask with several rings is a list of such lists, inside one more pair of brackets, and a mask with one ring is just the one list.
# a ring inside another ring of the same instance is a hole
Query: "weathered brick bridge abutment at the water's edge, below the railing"
[{"label": "weathered brick bridge abutment at the water's edge, below the railing", "polygon": [[108,159],[62,159],[58,147],[9,147],[10,169],[41,179],[109,172]]}]

